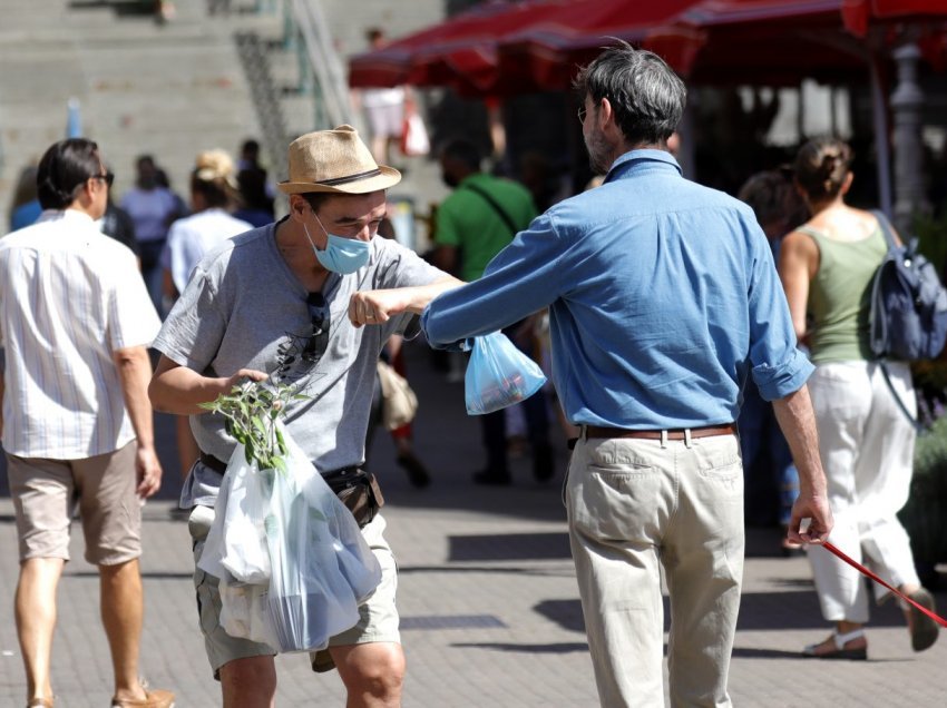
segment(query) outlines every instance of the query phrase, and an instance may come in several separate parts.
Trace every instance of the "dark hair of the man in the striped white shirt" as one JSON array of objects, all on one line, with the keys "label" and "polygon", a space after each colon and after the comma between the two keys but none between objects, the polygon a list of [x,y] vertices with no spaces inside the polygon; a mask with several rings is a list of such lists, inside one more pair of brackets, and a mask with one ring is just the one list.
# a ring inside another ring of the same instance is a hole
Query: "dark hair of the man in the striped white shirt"
[{"label": "dark hair of the man in the striped white shirt", "polygon": [[52,145],[37,169],[36,187],[43,209],[65,209],[76,200],[86,180],[101,174],[99,146],[85,138]]}]

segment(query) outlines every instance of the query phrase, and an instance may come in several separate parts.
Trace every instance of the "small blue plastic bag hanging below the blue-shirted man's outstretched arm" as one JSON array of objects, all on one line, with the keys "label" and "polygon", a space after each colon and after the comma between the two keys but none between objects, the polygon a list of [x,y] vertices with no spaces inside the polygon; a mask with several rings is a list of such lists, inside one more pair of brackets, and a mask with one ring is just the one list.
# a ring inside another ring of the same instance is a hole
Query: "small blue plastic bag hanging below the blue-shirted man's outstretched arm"
[{"label": "small blue plastic bag hanging below the blue-shirted man's outstretched arm", "polygon": [[539,391],[546,376],[539,365],[502,332],[473,340],[463,376],[467,413],[482,415],[519,403]]}]

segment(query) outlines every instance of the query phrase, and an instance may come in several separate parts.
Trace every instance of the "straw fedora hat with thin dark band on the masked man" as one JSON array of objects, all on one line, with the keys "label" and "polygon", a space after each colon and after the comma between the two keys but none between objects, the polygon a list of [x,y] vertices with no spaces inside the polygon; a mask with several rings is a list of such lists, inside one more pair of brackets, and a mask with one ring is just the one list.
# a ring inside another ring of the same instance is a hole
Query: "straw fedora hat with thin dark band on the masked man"
[{"label": "straw fedora hat with thin dark band on the masked man", "polygon": [[374,161],[352,126],[296,138],[290,144],[289,163],[290,178],[277,185],[286,194],[368,194],[401,181],[401,173]]}]

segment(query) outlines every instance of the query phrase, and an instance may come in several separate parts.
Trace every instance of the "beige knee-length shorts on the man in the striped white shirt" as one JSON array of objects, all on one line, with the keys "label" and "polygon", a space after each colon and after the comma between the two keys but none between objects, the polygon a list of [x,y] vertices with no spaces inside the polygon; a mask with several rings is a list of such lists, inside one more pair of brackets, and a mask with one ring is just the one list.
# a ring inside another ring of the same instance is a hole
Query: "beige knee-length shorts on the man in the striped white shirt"
[{"label": "beige knee-length shorts on the man in the striped white shirt", "polygon": [[136,494],[136,441],[84,460],[7,454],[10,498],[17,513],[20,560],[69,560],[76,509],[86,539],[86,560],[117,566],[141,555],[141,504]]}]

